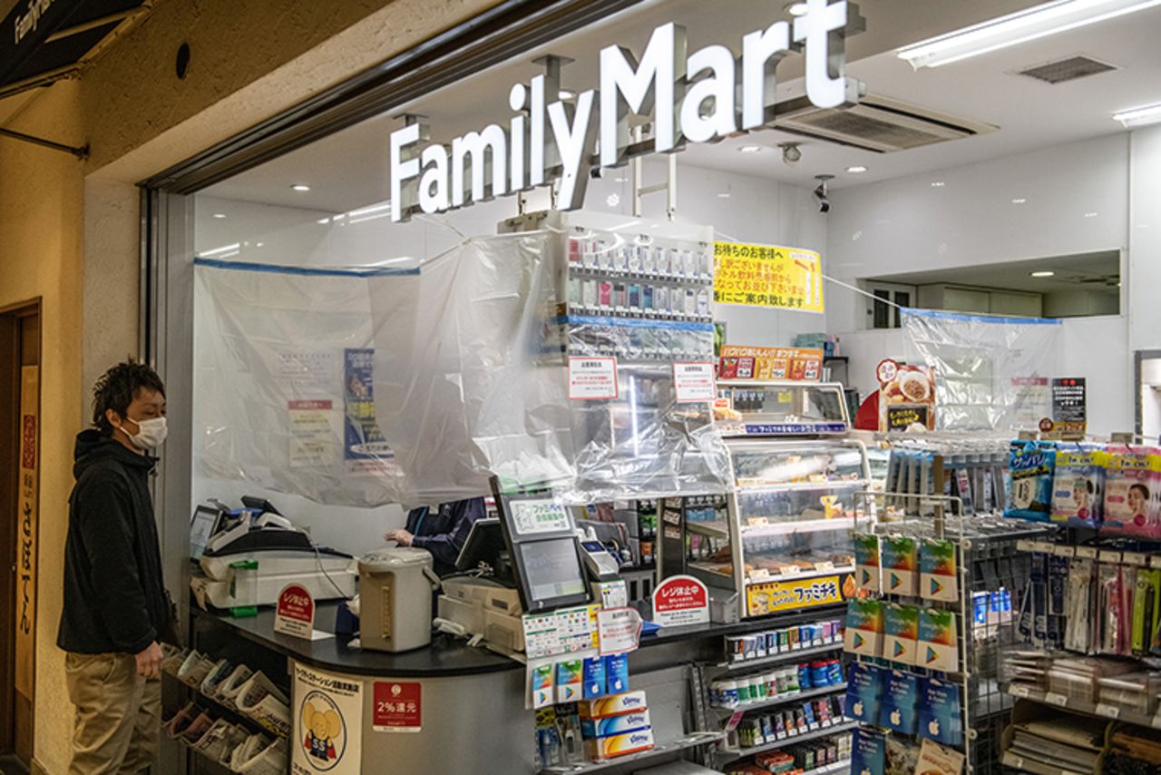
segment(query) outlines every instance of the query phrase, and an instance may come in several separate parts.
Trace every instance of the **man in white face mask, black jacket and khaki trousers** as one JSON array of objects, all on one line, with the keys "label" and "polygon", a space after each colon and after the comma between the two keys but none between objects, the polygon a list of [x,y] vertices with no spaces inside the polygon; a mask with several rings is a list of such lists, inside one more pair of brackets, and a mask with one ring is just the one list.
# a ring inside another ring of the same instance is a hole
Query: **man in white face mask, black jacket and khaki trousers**
[{"label": "man in white face mask, black jacket and khaki trousers", "polygon": [[77,436],[57,645],[77,705],[71,774],[139,773],[157,756],[161,648],[173,632],[149,476],[165,442],[165,386],[117,364]]}]

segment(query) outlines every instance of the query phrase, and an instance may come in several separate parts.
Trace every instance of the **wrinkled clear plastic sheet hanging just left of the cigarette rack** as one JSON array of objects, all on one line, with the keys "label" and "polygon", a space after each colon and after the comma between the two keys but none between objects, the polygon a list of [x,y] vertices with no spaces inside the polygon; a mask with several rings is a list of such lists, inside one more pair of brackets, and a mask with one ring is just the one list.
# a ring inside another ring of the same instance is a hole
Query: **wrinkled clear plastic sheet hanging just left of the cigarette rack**
[{"label": "wrinkled clear plastic sheet hanging just left of the cigarette rack", "polygon": [[404,503],[572,478],[567,374],[538,365],[562,237],[467,239],[412,277],[368,279],[376,416]]}]

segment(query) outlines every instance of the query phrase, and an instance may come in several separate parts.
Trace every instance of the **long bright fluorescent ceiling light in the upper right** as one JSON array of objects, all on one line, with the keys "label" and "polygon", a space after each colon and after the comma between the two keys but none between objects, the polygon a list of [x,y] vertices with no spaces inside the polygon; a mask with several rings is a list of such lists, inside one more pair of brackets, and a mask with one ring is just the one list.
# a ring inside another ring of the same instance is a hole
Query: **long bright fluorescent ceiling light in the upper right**
[{"label": "long bright fluorescent ceiling light in the upper right", "polygon": [[906,45],[896,53],[916,70],[938,67],[1158,5],[1161,0],[1053,0]]}]

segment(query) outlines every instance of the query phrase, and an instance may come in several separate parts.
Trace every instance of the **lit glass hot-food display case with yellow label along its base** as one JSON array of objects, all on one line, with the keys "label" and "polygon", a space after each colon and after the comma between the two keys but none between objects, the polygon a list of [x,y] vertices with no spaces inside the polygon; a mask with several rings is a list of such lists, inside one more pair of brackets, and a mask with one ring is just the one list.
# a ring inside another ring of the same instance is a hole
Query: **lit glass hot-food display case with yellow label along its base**
[{"label": "lit glass hot-food display case with yellow label along its base", "polygon": [[[719,393],[741,415],[719,421],[734,488],[724,509],[686,519],[688,572],[736,591],[743,617],[846,600],[854,586],[856,493],[870,487],[871,469],[865,445],[841,436],[842,387],[747,382],[723,383]],[[836,428],[784,428],[802,424]]]}]

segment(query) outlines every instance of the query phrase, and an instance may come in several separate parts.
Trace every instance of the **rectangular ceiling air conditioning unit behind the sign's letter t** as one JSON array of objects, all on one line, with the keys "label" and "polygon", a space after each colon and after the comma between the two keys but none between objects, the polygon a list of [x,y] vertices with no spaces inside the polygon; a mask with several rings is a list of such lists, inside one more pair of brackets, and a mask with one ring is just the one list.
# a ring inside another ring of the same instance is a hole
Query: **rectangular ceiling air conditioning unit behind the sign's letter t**
[{"label": "rectangular ceiling air conditioning unit behind the sign's letter t", "polygon": [[776,129],[878,153],[906,151],[998,129],[873,93],[848,107],[816,108],[798,100],[787,107],[776,112]]}]

